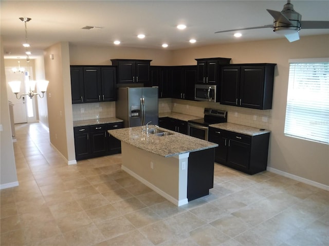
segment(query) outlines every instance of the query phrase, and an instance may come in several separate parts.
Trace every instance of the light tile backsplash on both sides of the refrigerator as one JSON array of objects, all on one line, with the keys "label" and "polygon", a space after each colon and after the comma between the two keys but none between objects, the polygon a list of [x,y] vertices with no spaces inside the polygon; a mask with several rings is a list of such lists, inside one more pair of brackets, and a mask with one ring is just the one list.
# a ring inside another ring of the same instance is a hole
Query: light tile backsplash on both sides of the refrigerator
[{"label": "light tile backsplash on both sides of the refrigerator", "polygon": [[[271,130],[271,110],[246,109],[205,101],[159,99],[159,113],[175,112],[202,118],[204,117],[204,108],[226,110],[228,112],[227,121],[234,124]],[[99,115],[99,118],[115,117],[115,101],[74,104],[72,105],[72,111],[73,120],[95,119],[97,115]]]}]

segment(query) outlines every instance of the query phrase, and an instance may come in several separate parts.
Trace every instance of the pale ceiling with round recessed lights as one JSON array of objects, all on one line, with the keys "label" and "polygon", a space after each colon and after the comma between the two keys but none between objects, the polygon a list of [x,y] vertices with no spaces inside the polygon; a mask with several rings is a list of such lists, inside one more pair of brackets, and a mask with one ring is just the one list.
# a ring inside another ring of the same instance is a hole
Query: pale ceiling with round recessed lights
[{"label": "pale ceiling with round recessed lights", "polygon": [[[1,36],[5,58],[25,57],[25,27],[19,17],[30,17],[28,42],[33,55],[58,42],[72,45],[138,47],[168,50],[282,38],[271,28],[216,31],[270,25],[266,9],[281,11],[286,1],[0,1]],[[329,1],[291,1],[302,20],[329,20]],[[178,30],[178,24],[185,30]],[[90,30],[85,26],[102,27]],[[144,33],[144,39],[137,34]],[[301,30],[305,35],[329,34],[328,29]],[[196,39],[190,44],[189,39]],[[298,41],[297,41],[298,42]],[[288,40],[287,40],[288,43]]]}]

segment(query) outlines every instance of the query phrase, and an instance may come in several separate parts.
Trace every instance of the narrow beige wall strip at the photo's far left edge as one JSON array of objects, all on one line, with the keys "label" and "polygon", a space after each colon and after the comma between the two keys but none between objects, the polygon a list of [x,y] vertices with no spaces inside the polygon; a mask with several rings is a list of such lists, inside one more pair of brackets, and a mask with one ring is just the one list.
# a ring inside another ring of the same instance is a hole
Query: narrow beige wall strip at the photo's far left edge
[{"label": "narrow beige wall strip at the photo's far left edge", "polygon": [[11,138],[11,125],[7,98],[7,81],[5,75],[4,49],[0,36],[0,189],[18,186]]}]

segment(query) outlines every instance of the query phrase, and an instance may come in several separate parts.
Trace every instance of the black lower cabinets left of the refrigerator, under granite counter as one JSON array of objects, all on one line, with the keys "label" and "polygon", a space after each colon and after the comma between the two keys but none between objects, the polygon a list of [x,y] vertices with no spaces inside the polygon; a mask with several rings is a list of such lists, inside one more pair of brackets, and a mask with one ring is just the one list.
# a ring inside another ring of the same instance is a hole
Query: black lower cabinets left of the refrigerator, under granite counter
[{"label": "black lower cabinets left of the refrigerator, under granite counter", "polygon": [[123,128],[122,122],[75,127],[76,160],[120,153],[120,140],[107,132],[107,130],[118,128]]}]

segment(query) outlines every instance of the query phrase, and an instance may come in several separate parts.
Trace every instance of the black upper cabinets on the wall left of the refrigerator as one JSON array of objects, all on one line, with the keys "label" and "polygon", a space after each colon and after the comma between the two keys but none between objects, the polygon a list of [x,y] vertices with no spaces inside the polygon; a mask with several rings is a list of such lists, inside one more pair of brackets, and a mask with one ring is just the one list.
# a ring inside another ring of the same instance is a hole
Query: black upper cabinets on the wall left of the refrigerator
[{"label": "black upper cabinets on the wall left of the refrigerator", "polygon": [[116,100],[116,67],[70,66],[70,72],[72,104]]}]

